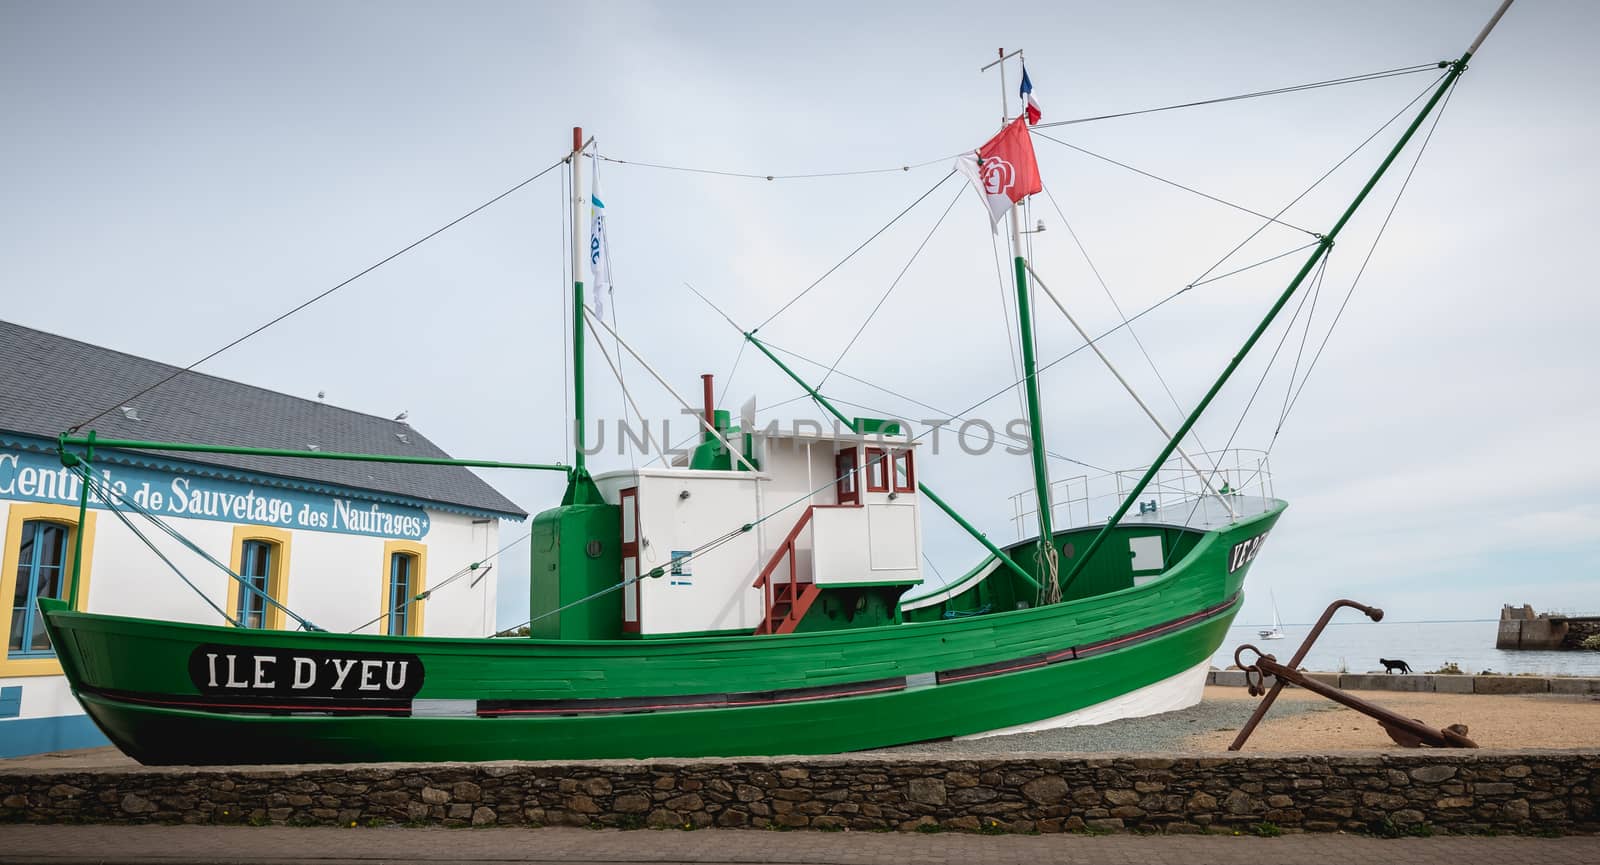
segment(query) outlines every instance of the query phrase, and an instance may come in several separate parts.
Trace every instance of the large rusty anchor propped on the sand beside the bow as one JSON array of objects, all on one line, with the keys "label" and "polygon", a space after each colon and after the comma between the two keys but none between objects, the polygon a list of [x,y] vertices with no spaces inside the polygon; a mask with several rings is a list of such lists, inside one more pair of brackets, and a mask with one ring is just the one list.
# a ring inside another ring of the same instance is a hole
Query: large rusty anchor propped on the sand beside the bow
[{"label": "large rusty anchor propped on the sand beside the bow", "polygon": [[[1234,649],[1234,664],[1245,670],[1245,683],[1250,686],[1250,696],[1261,697],[1266,694],[1266,697],[1261,700],[1261,705],[1256,707],[1256,712],[1251,713],[1250,720],[1245,721],[1245,726],[1238,731],[1238,735],[1234,737],[1234,743],[1229,745],[1227,750],[1237,751],[1245,747],[1245,740],[1256,731],[1256,724],[1259,724],[1261,718],[1266,716],[1269,708],[1272,708],[1272,700],[1278,699],[1278,692],[1283,691],[1285,684],[1294,684],[1310,691],[1312,694],[1322,694],[1336,704],[1347,705],[1355,712],[1373,718],[1381,727],[1384,727],[1389,739],[1394,739],[1395,743],[1403,748],[1419,748],[1422,745],[1430,748],[1477,748],[1477,742],[1467,739],[1466,724],[1450,724],[1445,729],[1434,729],[1416,718],[1406,718],[1299,672],[1301,660],[1306,659],[1306,652],[1310,651],[1310,644],[1322,636],[1322,628],[1328,627],[1333,614],[1338,612],[1339,608],[1346,606],[1365,612],[1373,622],[1381,622],[1384,617],[1384,611],[1374,606],[1358,604],[1341,598],[1328,604],[1322,619],[1317,619],[1317,625],[1310,628],[1310,633],[1306,635],[1306,641],[1301,643],[1301,648],[1294,652],[1294,657],[1291,657],[1288,664],[1278,664],[1275,656],[1266,654],[1250,643]],[[1254,664],[1246,665],[1243,662],[1242,656],[1245,649],[1256,652]],[[1266,688],[1266,676],[1274,678],[1272,688]]]}]

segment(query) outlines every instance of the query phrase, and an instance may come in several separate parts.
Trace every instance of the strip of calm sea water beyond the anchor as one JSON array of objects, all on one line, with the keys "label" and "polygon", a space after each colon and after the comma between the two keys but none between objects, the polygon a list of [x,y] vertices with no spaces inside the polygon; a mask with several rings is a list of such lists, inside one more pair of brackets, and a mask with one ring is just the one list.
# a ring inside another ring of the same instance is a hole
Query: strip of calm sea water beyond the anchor
[{"label": "strip of calm sea water beyond the anchor", "polygon": [[[1341,611],[1360,616],[1357,611]],[[1261,640],[1264,625],[1234,625],[1211,664],[1226,668],[1234,664],[1234,649],[1251,643],[1261,651],[1288,662],[1310,633],[1310,625],[1283,625],[1283,640]],[[1414,673],[1438,670],[1456,662],[1462,673],[1539,673],[1566,676],[1600,676],[1600,652],[1595,651],[1504,651],[1494,648],[1499,624],[1480,622],[1331,622],[1312,644],[1301,667],[1320,672],[1382,672],[1379,657],[1405,660]],[[1245,652],[1245,662],[1254,657]]]}]

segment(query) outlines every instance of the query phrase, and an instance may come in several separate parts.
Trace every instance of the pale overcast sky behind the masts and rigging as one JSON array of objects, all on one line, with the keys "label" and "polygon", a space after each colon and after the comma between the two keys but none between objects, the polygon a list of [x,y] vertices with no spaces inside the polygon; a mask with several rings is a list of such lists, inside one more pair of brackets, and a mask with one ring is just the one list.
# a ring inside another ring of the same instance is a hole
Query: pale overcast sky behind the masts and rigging
[{"label": "pale overcast sky behind the masts and rigging", "polygon": [[[683,393],[715,373],[725,408],[750,395],[771,406],[795,387],[749,352],[730,384],[739,336],[683,283],[746,328],[776,312],[938,184],[947,157],[994,133],[1000,82],[978,67],[997,46],[1027,51],[1050,122],[1451,59],[1496,5],[0,2],[0,315],[187,365],[557,161],[574,125],[608,157],[762,176],[931,161],[771,182],[602,165],[624,336]],[[1291,507],[1258,558],[1240,622],[1270,617],[1262,587],[1291,622],[1338,596],[1400,620],[1493,617],[1501,603],[1600,611],[1597,32],[1594,3],[1514,6],[1448,102],[1277,438],[1294,360],[1304,374],[1414,149],[1341,237],[1277,363],[1267,368],[1293,304],[1197,427],[1195,449],[1222,448],[1264,381],[1232,441],[1272,446],[1275,489]],[[1014,86],[1014,66],[1008,74]],[[1435,77],[1050,134],[1275,213]],[[1397,133],[1389,126],[1283,219],[1326,230]],[[1035,145],[1061,213],[1034,203],[1046,225],[1032,235],[1034,262],[1093,333],[1118,313],[1085,251],[1131,315],[1261,224],[1061,144]],[[302,397],[325,390],[386,417],[408,409],[456,456],[570,459],[562,197],[550,173],[203,369]],[[762,334],[832,361],[930,230],[840,371],[949,411],[998,390],[1014,376],[995,251],[982,205],[955,181]],[[1306,240],[1269,227],[1218,273]],[[1176,425],[1178,406],[1205,393],[1302,256],[1142,318],[1134,333],[1165,387],[1130,336],[1104,349]],[[1043,358],[1078,345],[1053,309],[1037,313]],[[594,353],[589,374],[592,411],[621,414]],[[677,411],[638,368],[627,376],[646,413]],[[827,392],[934,417],[850,379]],[[1058,454],[1128,468],[1160,451],[1086,353],[1045,373],[1043,392]],[[1010,395],[974,413],[995,425],[1016,414]],[[800,403],[773,416],[816,417]],[[608,448],[592,464],[629,457]],[[1088,470],[1053,460],[1051,472]],[[552,476],[488,476],[530,512],[560,494]],[[1030,483],[1026,457],[973,457],[946,441],[922,480],[992,536],[1014,537],[1006,497]],[[506,524],[502,539],[523,531]],[[931,510],[926,536],[946,576],[981,556]],[[502,624],[526,619],[525,560],[522,545],[502,569]]]}]

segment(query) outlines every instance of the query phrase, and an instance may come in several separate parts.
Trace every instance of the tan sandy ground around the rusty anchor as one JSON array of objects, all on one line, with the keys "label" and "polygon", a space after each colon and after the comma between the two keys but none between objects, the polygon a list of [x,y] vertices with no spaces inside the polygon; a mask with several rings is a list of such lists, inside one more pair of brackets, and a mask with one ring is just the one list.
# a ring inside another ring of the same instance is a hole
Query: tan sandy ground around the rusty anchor
[{"label": "tan sandy ground around the rusty anchor", "polygon": [[[1528,694],[1411,694],[1405,691],[1352,691],[1424,724],[1467,724],[1467,735],[1482,748],[1595,748],[1600,747],[1600,700],[1594,697]],[[1243,688],[1206,688],[1206,702],[1246,702],[1258,697]],[[1322,704],[1274,718],[1285,702]],[[1226,750],[1235,729],[1197,732],[1184,750]],[[1398,750],[1378,721],[1355,710],[1299,689],[1285,689],[1267,718],[1245,743],[1248,751]]]}]

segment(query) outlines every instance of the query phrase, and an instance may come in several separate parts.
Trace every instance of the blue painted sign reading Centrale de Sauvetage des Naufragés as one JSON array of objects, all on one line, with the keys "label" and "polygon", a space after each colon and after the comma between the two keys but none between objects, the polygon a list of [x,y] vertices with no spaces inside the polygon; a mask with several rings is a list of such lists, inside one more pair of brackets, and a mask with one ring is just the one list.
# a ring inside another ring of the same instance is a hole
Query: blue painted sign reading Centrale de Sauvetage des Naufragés
[{"label": "blue painted sign reading Centrale de Sauvetage des Naufrag\u00e9s", "polygon": [[[427,534],[427,512],[387,502],[366,502],[277,489],[245,481],[197,478],[130,465],[94,467],[96,476],[133,504],[158,516],[248,523],[373,537],[419,540]],[[0,497],[24,502],[78,502],[78,476],[51,454],[0,449]],[[106,507],[90,496],[90,507]]]}]

